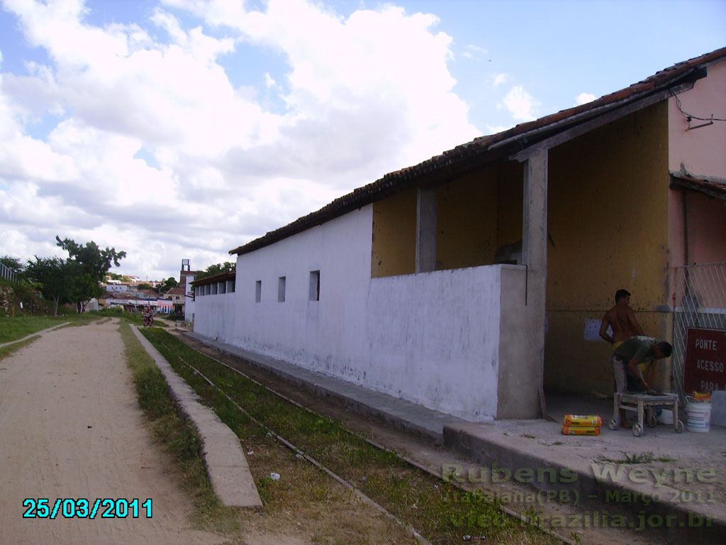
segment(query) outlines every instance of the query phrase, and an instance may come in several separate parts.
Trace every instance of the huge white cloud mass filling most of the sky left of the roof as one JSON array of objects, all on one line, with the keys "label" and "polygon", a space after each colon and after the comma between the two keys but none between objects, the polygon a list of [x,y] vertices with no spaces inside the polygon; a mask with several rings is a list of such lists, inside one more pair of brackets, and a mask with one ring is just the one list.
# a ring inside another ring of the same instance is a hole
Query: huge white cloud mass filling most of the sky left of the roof
[{"label": "huge white cloud mass filling most of the sky left of the roof", "polygon": [[[200,268],[232,259],[250,238],[480,134],[452,91],[452,39],[433,15],[164,4],[214,35],[162,7],[99,27],[80,0],[4,1],[50,59],[0,79],[1,210],[16,222],[0,221],[0,235],[19,257],[52,250],[59,234],[126,250],[127,273],[166,278],[181,257]],[[235,87],[220,60],[240,43],[287,67],[245,78],[261,89]],[[284,113],[266,110],[265,88],[285,89]],[[40,120],[47,137],[30,135]]]}]

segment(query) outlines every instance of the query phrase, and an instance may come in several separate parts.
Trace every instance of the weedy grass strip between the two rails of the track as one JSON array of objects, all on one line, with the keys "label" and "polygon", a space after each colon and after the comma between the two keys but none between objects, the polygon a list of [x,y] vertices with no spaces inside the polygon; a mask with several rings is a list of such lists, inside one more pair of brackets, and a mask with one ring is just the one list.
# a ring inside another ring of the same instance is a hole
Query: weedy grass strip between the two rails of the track
[{"label": "weedy grass strip between the two rails of the track", "polygon": [[[254,427],[240,418],[240,411],[184,365],[182,359],[224,389],[245,411],[354,483],[428,540],[458,544],[462,536],[485,535],[487,542],[495,544],[560,543],[542,530],[502,514],[496,501],[481,494],[462,493],[450,483],[411,467],[394,453],[380,451],[351,434],[340,421],[321,418],[281,400],[166,332],[150,329],[144,335],[242,442],[250,438]],[[266,501],[264,487],[261,496]]]}]

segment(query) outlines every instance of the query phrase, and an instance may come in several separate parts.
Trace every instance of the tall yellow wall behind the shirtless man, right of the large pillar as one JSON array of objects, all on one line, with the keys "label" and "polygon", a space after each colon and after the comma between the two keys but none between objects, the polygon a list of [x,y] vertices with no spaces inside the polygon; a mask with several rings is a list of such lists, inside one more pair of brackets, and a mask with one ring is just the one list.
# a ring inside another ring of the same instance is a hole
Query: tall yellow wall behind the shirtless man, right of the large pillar
[{"label": "tall yellow wall behind the shirtless man, right of the large pillar", "polygon": [[612,347],[584,339],[615,291],[632,293],[646,335],[663,336],[667,304],[666,104],[633,113],[550,150],[544,384],[613,391]]}]

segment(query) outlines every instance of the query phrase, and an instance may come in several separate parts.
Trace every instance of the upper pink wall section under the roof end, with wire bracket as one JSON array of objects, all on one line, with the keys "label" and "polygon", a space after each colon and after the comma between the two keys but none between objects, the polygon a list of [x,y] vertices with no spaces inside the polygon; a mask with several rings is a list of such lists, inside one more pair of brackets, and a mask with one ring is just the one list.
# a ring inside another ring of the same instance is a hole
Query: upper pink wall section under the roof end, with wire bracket
[{"label": "upper pink wall section under the roof end, with wire bracket", "polygon": [[[726,118],[726,60],[710,65],[708,77],[696,81],[693,89],[678,95],[681,108],[694,116]],[[693,120],[691,125],[702,124]],[[688,121],[678,110],[674,97],[668,101],[668,166],[685,169],[696,177],[726,181],[726,122],[714,121],[700,129],[688,129]]]}]

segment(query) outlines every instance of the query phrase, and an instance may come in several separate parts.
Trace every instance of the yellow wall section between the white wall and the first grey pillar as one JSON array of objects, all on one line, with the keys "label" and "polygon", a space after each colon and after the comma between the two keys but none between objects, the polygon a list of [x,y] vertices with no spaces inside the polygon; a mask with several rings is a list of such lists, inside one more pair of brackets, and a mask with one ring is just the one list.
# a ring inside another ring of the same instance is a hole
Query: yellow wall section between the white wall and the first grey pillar
[{"label": "yellow wall section between the white wall and the first grey pillar", "polygon": [[370,275],[409,275],[416,272],[416,190],[397,193],[373,203],[373,241]]}]

